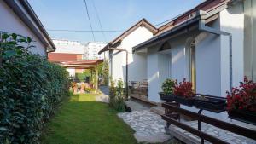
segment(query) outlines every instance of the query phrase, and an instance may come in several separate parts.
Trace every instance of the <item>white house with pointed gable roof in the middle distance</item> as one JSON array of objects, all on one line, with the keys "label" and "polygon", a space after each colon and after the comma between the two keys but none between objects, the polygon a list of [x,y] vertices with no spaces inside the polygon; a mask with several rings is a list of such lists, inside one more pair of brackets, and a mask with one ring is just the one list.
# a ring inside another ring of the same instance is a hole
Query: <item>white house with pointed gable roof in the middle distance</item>
[{"label": "white house with pointed gable roof in the middle distance", "polygon": [[[114,81],[121,79],[128,82],[147,79],[145,75],[147,55],[132,54],[132,47],[154,37],[156,32],[157,29],[143,19],[99,51],[99,54],[109,51],[109,73]],[[126,72],[128,72],[127,79]]]}]

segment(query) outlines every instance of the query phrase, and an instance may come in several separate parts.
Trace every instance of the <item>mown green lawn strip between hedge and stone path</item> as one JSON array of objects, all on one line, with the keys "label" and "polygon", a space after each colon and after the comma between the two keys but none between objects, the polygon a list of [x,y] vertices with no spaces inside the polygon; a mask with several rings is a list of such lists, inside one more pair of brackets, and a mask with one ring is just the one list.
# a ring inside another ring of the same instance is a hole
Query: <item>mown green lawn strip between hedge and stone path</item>
[{"label": "mown green lawn strip between hedge and stone path", "polygon": [[42,136],[43,144],[133,144],[134,131],[94,95],[65,101]]}]

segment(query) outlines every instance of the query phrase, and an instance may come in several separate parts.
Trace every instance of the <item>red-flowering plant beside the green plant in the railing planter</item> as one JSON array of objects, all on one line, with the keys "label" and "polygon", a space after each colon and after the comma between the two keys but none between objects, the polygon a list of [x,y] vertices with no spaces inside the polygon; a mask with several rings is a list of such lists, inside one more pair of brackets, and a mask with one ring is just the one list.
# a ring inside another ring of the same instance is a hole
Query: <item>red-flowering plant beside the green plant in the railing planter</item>
[{"label": "red-flowering plant beside the green plant in the railing planter", "polygon": [[174,95],[183,96],[185,98],[194,97],[195,94],[192,89],[192,83],[187,82],[186,78],[183,78],[183,82],[179,82],[179,83],[177,83],[177,80],[176,80],[175,86],[174,86]]}]

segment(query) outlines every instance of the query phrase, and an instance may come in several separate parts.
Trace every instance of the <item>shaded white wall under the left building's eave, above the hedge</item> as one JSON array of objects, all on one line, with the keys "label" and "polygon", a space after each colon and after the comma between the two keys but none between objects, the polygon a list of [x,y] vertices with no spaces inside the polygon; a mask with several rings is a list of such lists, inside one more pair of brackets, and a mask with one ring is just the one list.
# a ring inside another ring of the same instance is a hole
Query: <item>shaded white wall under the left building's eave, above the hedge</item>
[{"label": "shaded white wall under the left building's eave, above the hedge", "polygon": [[39,55],[46,55],[45,46],[41,43],[32,33],[32,31],[20,20],[20,18],[11,10],[3,0],[0,0],[0,31],[17,33],[26,37],[32,37],[36,42],[32,45],[36,46],[35,48],[30,49],[32,53]]}]

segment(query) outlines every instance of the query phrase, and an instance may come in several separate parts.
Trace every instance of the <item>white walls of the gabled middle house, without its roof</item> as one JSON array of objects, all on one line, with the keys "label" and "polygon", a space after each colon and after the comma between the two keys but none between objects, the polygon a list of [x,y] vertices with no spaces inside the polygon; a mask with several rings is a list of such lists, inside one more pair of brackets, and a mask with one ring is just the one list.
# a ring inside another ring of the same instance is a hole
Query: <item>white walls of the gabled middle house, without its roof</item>
[{"label": "white walls of the gabled middle house, without its roof", "polygon": [[[132,47],[139,43],[143,43],[151,37],[153,37],[152,32],[150,32],[144,26],[140,26],[126,36],[118,46],[119,49],[126,49],[128,51],[129,81],[143,81],[147,78],[145,74],[147,72],[146,55],[132,54]],[[112,73],[113,80],[122,79],[125,81],[126,53],[114,50],[112,56],[110,56],[110,59],[112,60],[110,60],[109,71]]]}]

